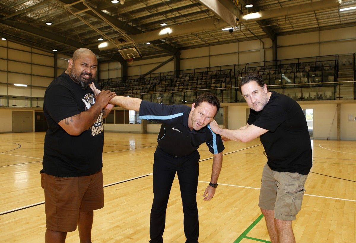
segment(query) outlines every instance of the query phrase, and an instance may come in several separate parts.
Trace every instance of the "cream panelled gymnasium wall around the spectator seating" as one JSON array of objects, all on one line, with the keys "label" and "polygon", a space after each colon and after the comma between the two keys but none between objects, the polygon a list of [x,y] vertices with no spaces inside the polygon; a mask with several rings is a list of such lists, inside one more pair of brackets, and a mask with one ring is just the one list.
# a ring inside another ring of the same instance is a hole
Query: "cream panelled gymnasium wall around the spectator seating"
[{"label": "cream panelled gymnasium wall around the spectator seating", "polygon": [[[278,36],[278,59],[314,57],[356,52],[356,27],[315,31],[295,35]],[[157,53],[159,54],[159,53]],[[57,54],[57,73],[66,70],[70,57]],[[169,57],[134,60],[128,66],[128,75],[142,75],[166,61]],[[219,65],[244,64],[272,60],[272,41],[269,38],[236,42],[217,46],[183,49],[180,51],[180,69],[213,67]],[[10,41],[0,41],[0,95],[43,97],[45,89],[53,80],[54,53],[44,52]],[[174,69],[170,61],[154,71],[169,72]],[[99,64],[99,78],[121,76],[119,62]],[[14,83],[32,85],[16,87]],[[304,105],[303,109],[314,110],[314,138],[336,139],[336,103]],[[9,101],[9,105],[10,101]],[[42,104],[41,104],[42,105]],[[246,124],[246,103],[229,104],[229,129]],[[23,109],[23,108],[22,108]],[[31,109],[31,108],[27,108]],[[17,108],[0,107],[1,132],[11,132],[11,111]],[[356,121],[348,115],[356,115],[356,103],[341,104],[341,139],[356,140]],[[335,119],[334,119],[335,118]],[[333,122],[334,120],[334,122]],[[106,131],[140,132],[137,125],[106,124]],[[159,125],[148,125],[147,132],[158,132]]]}]

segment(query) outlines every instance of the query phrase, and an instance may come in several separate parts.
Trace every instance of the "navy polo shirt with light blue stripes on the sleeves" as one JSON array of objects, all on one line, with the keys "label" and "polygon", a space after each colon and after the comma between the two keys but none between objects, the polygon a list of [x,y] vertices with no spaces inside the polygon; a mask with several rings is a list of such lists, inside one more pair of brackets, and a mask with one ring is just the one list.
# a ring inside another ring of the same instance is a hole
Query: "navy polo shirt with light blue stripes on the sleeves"
[{"label": "navy polo shirt with light blue stripes on the sleeves", "polygon": [[211,131],[210,126],[199,131],[190,131],[188,117],[191,108],[186,105],[164,105],[142,101],[140,118],[162,123],[157,142],[163,152],[177,157],[187,156],[206,143],[213,154],[222,152],[225,147],[220,135]]}]

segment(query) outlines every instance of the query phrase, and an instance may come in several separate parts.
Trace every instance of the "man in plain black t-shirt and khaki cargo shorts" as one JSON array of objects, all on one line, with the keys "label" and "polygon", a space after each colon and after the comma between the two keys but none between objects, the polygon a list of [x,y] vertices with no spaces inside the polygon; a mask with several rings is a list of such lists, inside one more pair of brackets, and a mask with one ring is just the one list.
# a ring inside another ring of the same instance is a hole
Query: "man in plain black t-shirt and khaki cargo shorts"
[{"label": "man in plain black t-shirt and khaki cargo shorts", "polygon": [[258,73],[242,77],[239,88],[251,108],[246,126],[228,130],[212,121],[210,127],[224,141],[249,142],[261,136],[267,163],[262,171],[258,206],[272,243],[295,242],[292,220],[302,206],[304,184],[312,168],[307,121],[296,101],[268,91]]}]

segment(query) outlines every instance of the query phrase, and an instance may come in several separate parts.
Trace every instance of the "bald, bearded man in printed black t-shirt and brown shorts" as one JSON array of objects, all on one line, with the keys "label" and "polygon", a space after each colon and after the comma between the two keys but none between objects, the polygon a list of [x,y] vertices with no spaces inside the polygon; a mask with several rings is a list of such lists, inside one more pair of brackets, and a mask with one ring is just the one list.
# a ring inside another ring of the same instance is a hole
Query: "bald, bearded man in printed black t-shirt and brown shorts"
[{"label": "bald, bearded man in printed black t-shirt and brown shorts", "polygon": [[45,242],[64,242],[78,225],[80,242],[91,242],[93,210],[104,206],[103,118],[115,93],[89,88],[98,61],[80,48],[68,68],[48,85],[43,112],[45,136],[41,186],[45,190]]}]

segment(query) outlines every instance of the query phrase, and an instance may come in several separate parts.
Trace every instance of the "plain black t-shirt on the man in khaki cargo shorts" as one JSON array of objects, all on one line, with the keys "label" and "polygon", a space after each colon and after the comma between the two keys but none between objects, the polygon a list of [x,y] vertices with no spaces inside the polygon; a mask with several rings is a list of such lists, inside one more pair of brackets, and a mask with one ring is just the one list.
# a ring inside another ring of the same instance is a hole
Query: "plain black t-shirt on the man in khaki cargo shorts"
[{"label": "plain black t-shirt on the man in khaki cargo shorts", "polygon": [[307,121],[299,104],[290,97],[271,91],[261,111],[250,109],[247,123],[268,130],[261,135],[267,164],[279,172],[307,175],[312,168],[312,146]]}]

